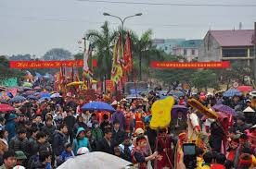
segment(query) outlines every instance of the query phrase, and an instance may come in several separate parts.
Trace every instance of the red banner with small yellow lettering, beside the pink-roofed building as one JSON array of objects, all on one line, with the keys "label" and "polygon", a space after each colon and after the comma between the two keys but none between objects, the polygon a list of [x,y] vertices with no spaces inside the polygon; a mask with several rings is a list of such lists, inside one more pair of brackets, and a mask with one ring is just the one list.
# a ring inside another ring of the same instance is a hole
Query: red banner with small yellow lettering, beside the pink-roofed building
[{"label": "red banner with small yellow lettering, beside the pink-roofed building", "polygon": [[152,68],[229,68],[230,62],[151,62]]}]

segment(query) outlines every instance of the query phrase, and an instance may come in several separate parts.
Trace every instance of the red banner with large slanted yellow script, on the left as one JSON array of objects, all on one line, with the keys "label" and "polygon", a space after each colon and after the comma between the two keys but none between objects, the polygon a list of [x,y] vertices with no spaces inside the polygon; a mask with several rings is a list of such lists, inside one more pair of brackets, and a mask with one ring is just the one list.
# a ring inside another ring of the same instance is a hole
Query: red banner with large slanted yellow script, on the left
[{"label": "red banner with large slanted yellow script, on the left", "polygon": [[[96,67],[96,59],[93,59],[93,66]],[[60,61],[10,61],[10,68],[58,68],[60,66],[83,67],[83,59],[60,60]]]}]

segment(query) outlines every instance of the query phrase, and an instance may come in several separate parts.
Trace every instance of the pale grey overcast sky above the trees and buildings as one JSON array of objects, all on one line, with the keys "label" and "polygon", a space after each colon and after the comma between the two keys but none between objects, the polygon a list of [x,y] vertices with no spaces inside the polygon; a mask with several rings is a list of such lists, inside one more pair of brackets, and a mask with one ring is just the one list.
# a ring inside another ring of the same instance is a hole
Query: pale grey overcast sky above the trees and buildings
[{"label": "pale grey overcast sky above the trees and buildings", "polygon": [[[255,0],[107,0],[147,3],[256,5]],[[77,43],[86,30],[99,29],[105,20],[111,28],[119,21],[102,15],[126,17],[125,27],[138,34],[152,29],[154,38],[201,39],[207,30],[253,29],[256,6],[148,6],[78,0],[0,0],[0,55],[35,54],[51,48],[79,52]]]}]

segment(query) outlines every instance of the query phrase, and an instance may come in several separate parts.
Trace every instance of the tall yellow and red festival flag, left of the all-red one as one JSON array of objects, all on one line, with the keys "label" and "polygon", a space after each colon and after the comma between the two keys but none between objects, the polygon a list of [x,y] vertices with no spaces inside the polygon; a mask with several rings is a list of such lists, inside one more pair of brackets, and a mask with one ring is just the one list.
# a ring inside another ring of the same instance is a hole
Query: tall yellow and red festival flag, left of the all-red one
[{"label": "tall yellow and red festival flag, left of the all-red one", "polygon": [[122,78],[121,59],[122,59],[122,43],[121,43],[121,36],[120,36],[119,40],[114,45],[112,69],[111,69],[111,80],[114,81],[116,84]]}]

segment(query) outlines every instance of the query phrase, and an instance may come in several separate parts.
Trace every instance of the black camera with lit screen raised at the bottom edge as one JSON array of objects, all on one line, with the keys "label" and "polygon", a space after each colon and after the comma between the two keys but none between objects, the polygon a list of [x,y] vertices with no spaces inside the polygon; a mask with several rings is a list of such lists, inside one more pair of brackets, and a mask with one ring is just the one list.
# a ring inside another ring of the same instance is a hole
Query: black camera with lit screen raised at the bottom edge
[{"label": "black camera with lit screen raised at the bottom edge", "polygon": [[197,154],[196,154],[196,144],[194,143],[184,143],[183,144],[184,159],[187,169],[197,168]]}]

